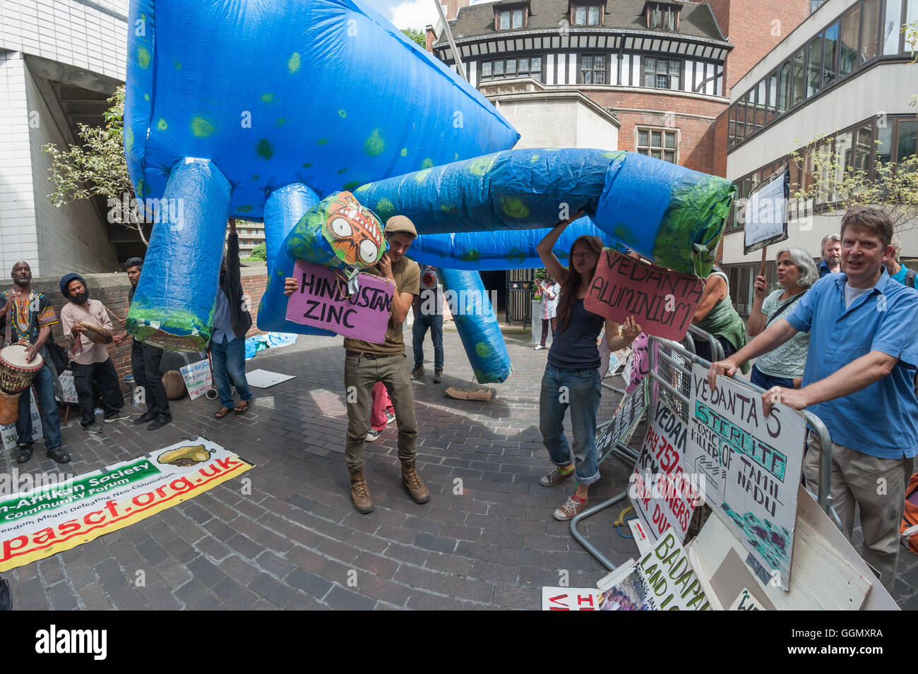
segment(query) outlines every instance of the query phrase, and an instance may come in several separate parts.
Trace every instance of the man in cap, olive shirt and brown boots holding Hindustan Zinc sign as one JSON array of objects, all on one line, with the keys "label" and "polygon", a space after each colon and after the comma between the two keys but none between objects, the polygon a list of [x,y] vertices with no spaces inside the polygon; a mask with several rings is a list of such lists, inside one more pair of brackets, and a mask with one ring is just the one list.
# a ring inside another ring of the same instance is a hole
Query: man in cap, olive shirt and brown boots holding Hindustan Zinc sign
[{"label": "man in cap, olive shirt and brown boots holding Hindustan Zinc sign", "polygon": [[[398,459],[401,460],[402,484],[415,503],[426,503],[429,494],[415,470],[418,422],[414,415],[414,392],[408,360],[405,358],[405,339],[402,324],[408,316],[414,298],[420,293],[420,267],[405,257],[412,241],[418,235],[411,221],[404,215],[394,215],[386,222],[386,241],[389,249],[379,263],[366,273],[389,279],[395,283],[392,312],[386,326],[386,341],[374,344],[360,339],[345,338],[344,386],[347,405],[347,441],[344,459],[351,473],[351,498],[358,512],[367,514],[374,510],[373,499],[364,480],[364,440],[370,424],[370,392],[377,381],[386,385],[386,391],[396,410],[398,425]],[[285,293],[297,290],[296,279],[286,279]]]}]

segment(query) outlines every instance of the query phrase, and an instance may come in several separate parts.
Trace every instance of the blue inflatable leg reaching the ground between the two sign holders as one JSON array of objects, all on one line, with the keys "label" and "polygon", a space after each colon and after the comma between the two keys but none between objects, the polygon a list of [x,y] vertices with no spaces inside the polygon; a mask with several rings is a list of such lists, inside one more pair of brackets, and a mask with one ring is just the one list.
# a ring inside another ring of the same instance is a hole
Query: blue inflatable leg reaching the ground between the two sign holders
[{"label": "blue inflatable leg reaching the ground between the two sign holders", "polygon": [[498,316],[477,271],[441,269],[453,320],[462,339],[465,355],[472,364],[478,383],[504,381],[513,371],[504,336],[500,334]]}]

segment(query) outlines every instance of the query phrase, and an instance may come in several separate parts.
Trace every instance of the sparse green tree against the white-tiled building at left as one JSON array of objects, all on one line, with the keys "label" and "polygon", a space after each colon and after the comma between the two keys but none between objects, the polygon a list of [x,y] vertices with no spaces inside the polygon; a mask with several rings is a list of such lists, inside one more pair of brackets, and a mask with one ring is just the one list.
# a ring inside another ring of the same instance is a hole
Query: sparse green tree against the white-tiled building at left
[{"label": "sparse green tree against the white-tiled building at left", "polygon": [[[54,192],[48,195],[51,203],[61,207],[71,201],[101,196],[121,203],[124,196],[134,198],[128,164],[124,159],[124,86],[119,86],[108,99],[104,116],[105,127],[79,126],[80,142],[68,149],[47,143],[42,151],[50,155],[50,178]],[[135,209],[122,213],[121,208],[110,209],[108,217],[136,229],[144,246],[143,217]]]}]

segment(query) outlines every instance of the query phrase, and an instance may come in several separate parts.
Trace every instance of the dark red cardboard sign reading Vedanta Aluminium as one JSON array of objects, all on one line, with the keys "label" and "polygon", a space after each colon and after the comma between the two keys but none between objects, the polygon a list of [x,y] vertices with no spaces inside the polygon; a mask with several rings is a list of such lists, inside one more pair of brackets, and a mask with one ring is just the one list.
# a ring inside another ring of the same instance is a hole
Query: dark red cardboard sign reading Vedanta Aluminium
[{"label": "dark red cardboard sign reading Vedanta Aluminium", "polygon": [[619,323],[633,315],[648,335],[679,342],[689,331],[703,288],[695,276],[603,249],[583,305]]}]

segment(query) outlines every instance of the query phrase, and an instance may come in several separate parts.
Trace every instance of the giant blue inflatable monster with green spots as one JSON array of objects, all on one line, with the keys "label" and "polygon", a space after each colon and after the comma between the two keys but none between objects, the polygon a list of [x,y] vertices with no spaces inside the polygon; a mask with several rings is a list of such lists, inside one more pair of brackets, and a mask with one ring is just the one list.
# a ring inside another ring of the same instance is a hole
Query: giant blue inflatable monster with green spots
[{"label": "giant blue inflatable monster with green spots", "polygon": [[729,182],[621,151],[511,150],[519,134],[475,88],[360,2],[133,0],[130,14],[130,177],[139,198],[183,204],[151,235],[128,315],[143,341],[206,347],[229,217],[264,221],[259,327],[302,334],[322,331],[285,320],[294,261],[375,264],[395,214],[418,229],[410,257],[444,268],[541,266],[545,227],[583,209],[559,257],[595,234],[710,271]]}]

